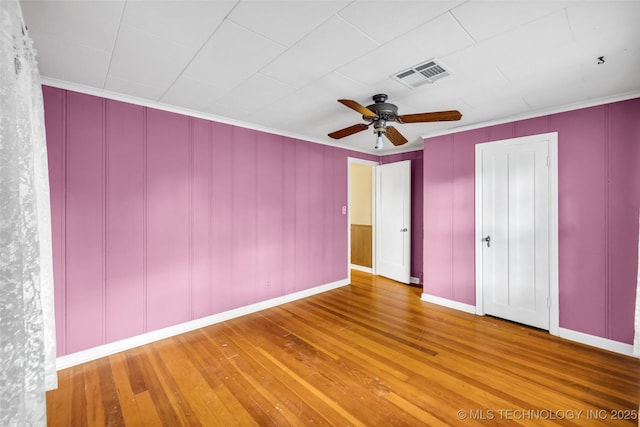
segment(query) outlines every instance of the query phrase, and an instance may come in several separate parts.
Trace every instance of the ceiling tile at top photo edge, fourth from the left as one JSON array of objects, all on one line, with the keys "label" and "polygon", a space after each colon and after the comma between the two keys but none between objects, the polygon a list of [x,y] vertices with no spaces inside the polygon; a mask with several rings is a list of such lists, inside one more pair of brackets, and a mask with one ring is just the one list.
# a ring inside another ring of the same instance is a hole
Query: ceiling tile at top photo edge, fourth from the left
[{"label": "ceiling tile at top photo edge, fourth from the left", "polygon": [[389,42],[436,18],[461,1],[352,2],[339,15],[378,43]]}]

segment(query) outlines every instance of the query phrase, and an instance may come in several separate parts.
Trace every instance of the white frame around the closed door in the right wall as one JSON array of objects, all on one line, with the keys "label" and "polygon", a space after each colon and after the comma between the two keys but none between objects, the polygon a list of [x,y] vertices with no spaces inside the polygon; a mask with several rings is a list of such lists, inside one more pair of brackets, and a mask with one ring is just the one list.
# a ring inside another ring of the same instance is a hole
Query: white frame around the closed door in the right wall
[{"label": "white frame around the closed door in the right wall", "polygon": [[476,314],[484,316],[482,283],[482,150],[488,146],[509,146],[547,140],[549,157],[549,333],[560,334],[560,306],[558,281],[558,133],[549,132],[517,138],[490,141],[475,145],[475,267]]}]

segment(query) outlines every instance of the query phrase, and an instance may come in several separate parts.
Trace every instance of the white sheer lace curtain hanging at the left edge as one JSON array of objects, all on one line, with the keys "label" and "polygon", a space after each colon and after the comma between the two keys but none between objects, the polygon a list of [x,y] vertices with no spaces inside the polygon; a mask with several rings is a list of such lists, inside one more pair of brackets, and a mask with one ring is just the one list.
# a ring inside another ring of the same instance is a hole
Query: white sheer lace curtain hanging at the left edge
[{"label": "white sheer lace curtain hanging at the left edge", "polygon": [[0,425],[46,425],[57,387],[49,177],[35,51],[0,0]]}]

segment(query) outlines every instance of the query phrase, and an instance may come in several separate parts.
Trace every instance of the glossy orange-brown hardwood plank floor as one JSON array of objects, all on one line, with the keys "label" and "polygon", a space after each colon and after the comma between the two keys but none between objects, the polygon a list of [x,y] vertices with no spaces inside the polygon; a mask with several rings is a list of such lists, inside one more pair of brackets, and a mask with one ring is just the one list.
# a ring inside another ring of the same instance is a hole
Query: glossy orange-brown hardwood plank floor
[{"label": "glossy orange-brown hardwood plank floor", "polygon": [[637,359],[352,279],[62,370],[49,425],[637,425]]}]

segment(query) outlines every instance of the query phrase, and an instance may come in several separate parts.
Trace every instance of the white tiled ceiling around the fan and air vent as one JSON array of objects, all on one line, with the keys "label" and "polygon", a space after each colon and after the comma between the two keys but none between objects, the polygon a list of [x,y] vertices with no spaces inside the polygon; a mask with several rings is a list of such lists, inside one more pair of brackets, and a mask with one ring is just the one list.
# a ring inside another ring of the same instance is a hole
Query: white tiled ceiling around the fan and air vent
[{"label": "white tiled ceiling around the fan and air vent", "polygon": [[[21,1],[45,83],[374,152],[339,98],[389,95],[422,137],[640,96],[640,1]],[[604,56],[605,63],[597,58]],[[452,75],[390,76],[431,58]],[[197,113],[195,113],[197,112]],[[377,152],[380,153],[380,152]]]}]

